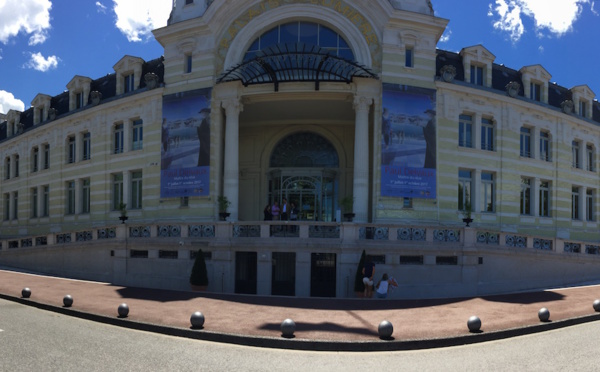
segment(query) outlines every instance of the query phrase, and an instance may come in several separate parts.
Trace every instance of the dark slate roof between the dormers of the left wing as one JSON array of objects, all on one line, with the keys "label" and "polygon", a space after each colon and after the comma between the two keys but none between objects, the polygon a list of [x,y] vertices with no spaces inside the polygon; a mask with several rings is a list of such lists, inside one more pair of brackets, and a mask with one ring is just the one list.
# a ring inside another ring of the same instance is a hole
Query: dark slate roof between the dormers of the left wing
[{"label": "dark slate roof between the dormers of the left wing", "polygon": [[[159,57],[153,59],[148,62],[144,62],[142,65],[142,78],[140,80],[140,87],[134,92],[126,93],[125,95],[129,96],[131,94],[136,94],[138,92],[142,92],[146,88],[146,82],[144,80],[144,75],[146,73],[152,72],[158,76],[158,84],[159,86],[164,83],[164,74],[165,74],[165,66],[163,64],[164,57]],[[103,101],[118,99],[117,97],[117,76],[116,73],[108,74],[104,77],[101,77],[96,80],[92,80],[90,84],[90,91],[99,91],[102,93],[102,100],[100,101],[100,105]],[[123,96],[125,96],[123,95]],[[56,116],[60,117],[63,115],[68,115],[69,112],[69,92],[65,91],[57,96],[50,98],[50,107],[56,110]],[[85,110],[88,106],[84,107]],[[91,106],[89,106],[91,107]],[[20,122],[24,126],[24,130],[28,130],[33,127],[33,107],[28,108],[27,110],[21,113]],[[49,122],[46,121],[45,123]],[[45,124],[45,123],[42,123]],[[0,141],[3,141],[7,138],[7,122],[4,121],[0,123]]]}]

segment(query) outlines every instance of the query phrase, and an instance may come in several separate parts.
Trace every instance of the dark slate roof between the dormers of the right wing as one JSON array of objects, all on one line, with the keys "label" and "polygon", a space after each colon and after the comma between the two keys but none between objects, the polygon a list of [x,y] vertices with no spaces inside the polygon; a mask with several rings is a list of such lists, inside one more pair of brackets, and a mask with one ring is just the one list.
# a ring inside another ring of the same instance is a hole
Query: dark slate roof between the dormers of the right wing
[{"label": "dark slate roof between the dormers of the right wing", "polygon": [[[454,77],[455,81],[465,81],[465,71],[462,63],[462,57],[459,53],[438,49],[436,58],[436,78],[441,78],[440,70],[445,65],[454,66],[456,69],[456,76]],[[519,96],[525,99],[521,73],[504,65],[499,65],[496,63],[492,64],[492,90],[498,91],[499,94],[506,94],[506,85],[511,81],[516,81],[520,84],[521,89],[519,90]],[[572,92],[570,89],[555,83],[550,83],[548,85],[549,106],[561,109],[561,103],[565,100],[571,100],[572,98]],[[540,104],[545,105],[543,103]],[[592,120],[600,123],[600,103],[598,101],[593,102],[592,113]]]}]

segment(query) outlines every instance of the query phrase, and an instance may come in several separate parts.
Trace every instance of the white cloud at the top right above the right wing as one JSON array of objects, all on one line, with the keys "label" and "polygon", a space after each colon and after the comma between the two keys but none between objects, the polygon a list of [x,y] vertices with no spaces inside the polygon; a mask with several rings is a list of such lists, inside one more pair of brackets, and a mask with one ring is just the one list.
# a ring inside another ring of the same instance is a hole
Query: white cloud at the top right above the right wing
[{"label": "white cloud at the top right above the right wing", "polygon": [[508,32],[511,40],[517,42],[525,32],[525,17],[534,21],[539,37],[548,32],[561,36],[573,28],[584,4],[591,4],[595,13],[591,0],[495,0],[495,5],[489,5],[488,15],[499,16],[494,28]]}]

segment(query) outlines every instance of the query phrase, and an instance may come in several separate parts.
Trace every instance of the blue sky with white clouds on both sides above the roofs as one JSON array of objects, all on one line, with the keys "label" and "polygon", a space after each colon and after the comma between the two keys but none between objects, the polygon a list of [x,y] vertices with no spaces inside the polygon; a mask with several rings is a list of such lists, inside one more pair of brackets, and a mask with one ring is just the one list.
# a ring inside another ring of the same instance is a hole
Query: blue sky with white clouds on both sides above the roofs
[{"label": "blue sky with white clouds on both sides above the roofs", "polygon": [[[215,0],[222,1],[222,0]],[[600,16],[594,0],[432,0],[450,20],[438,48],[482,44],[515,70],[541,64],[552,82],[587,84],[600,97]],[[75,76],[113,73],[124,55],[158,58],[150,30],[172,0],[0,0],[0,113],[27,109]]]}]

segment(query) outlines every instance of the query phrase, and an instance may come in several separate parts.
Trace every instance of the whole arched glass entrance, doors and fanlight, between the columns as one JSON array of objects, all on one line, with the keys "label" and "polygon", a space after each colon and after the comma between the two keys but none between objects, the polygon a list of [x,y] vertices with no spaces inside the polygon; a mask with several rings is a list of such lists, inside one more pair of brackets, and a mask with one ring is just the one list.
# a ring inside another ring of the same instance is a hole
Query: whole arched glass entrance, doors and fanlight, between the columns
[{"label": "whole arched glass entrance, doors and fanlight, between the columns", "polygon": [[[289,134],[273,148],[267,172],[268,200],[297,208],[300,221],[334,221],[339,193],[339,154],[318,133]],[[288,218],[291,217],[288,213]]]}]

